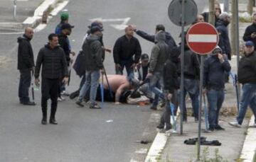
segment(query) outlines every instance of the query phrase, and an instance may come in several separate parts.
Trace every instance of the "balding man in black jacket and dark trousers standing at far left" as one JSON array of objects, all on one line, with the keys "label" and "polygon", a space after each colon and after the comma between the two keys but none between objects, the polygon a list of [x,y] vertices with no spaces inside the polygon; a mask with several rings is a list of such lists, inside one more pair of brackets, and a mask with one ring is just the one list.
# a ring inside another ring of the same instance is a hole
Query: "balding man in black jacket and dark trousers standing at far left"
[{"label": "balding man in black jacket and dark trousers standing at far left", "polygon": [[31,71],[32,75],[35,71],[33,49],[30,42],[32,38],[32,28],[26,28],[23,37],[18,37],[18,70],[21,74],[18,85],[18,98],[23,105],[36,105],[28,97],[28,88],[31,85]]}]

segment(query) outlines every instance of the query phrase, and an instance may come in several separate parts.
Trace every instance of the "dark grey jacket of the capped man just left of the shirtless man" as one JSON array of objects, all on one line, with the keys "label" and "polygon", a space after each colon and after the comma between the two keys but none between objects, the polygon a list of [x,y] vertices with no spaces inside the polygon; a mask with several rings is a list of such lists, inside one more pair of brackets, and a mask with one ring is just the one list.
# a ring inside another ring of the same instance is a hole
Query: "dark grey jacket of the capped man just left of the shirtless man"
[{"label": "dark grey jacket of the capped man just left of the shirtless man", "polygon": [[82,52],[85,53],[86,70],[97,71],[103,69],[103,52],[99,36],[89,35],[82,45]]}]

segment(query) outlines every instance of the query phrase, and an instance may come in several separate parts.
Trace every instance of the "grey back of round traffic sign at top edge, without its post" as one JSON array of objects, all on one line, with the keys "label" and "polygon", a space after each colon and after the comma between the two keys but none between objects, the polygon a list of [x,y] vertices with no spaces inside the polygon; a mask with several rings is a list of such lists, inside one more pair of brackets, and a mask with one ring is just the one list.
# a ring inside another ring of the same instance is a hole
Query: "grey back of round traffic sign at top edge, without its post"
[{"label": "grey back of round traffic sign at top edge, without its post", "polygon": [[[168,16],[175,25],[181,26],[182,17],[182,1],[173,0],[168,7]],[[193,0],[184,0],[184,25],[189,25],[196,21],[196,16],[198,14],[198,8],[196,2]]]}]

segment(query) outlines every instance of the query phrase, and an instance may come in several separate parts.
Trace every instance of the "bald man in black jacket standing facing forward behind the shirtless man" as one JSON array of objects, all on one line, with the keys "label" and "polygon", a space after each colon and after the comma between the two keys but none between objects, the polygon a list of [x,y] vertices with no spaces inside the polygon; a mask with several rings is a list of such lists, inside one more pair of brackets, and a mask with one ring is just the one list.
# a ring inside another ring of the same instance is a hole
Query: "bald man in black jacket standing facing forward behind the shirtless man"
[{"label": "bald man in black jacket standing facing forward behind the shirtless man", "polygon": [[[139,40],[133,36],[132,25],[125,28],[125,35],[119,37],[114,43],[113,56],[116,68],[116,74],[123,74],[124,66],[127,70],[127,76],[132,74],[132,70],[139,63],[142,55],[142,48]],[[134,59],[133,59],[134,57]]]}]

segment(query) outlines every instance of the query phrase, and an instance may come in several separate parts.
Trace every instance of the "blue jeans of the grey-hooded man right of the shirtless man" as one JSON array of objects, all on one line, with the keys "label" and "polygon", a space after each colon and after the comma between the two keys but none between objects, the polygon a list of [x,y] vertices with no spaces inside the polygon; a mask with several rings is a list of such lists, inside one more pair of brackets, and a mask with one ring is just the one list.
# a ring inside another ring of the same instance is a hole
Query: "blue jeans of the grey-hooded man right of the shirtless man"
[{"label": "blue jeans of the grey-hooded man right of the shirtless man", "polygon": [[162,81],[162,76],[160,72],[155,72],[153,76],[151,76],[150,81],[149,81],[149,90],[155,94],[154,96],[154,101],[153,101],[153,106],[158,105],[159,103],[159,97],[161,99],[164,98],[164,93],[160,90],[161,89],[161,81]]}]

